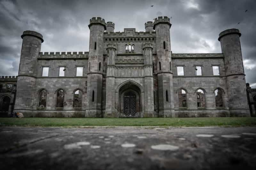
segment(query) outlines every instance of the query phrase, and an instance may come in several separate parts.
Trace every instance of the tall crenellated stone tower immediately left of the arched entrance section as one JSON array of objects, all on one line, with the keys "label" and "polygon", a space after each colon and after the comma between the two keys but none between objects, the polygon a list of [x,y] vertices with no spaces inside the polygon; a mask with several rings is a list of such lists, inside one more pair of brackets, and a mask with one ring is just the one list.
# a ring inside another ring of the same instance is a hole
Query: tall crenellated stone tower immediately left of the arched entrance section
[{"label": "tall crenellated stone tower immediately left of the arched entrance section", "polygon": [[102,117],[102,74],[103,74],[103,34],[106,23],[100,17],[90,19],[89,61],[87,74],[86,117]]}]

